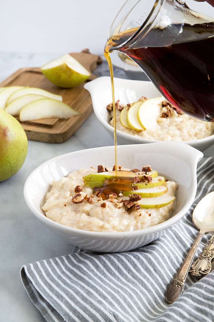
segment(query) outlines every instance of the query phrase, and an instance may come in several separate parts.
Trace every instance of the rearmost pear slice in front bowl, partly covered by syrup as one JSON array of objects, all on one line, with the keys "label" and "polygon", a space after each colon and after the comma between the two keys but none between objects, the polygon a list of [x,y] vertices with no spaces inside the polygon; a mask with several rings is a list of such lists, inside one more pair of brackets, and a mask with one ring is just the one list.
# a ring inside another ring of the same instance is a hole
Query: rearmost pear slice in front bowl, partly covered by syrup
[{"label": "rearmost pear slice in front bowl, partly covered by syrup", "polygon": [[[118,177],[130,178],[130,182],[133,181],[133,177],[139,176],[136,172],[132,172],[132,171],[118,171],[117,175]],[[150,175],[152,178],[155,178],[158,176],[158,172],[155,170],[152,170],[147,172],[147,175]],[[114,179],[115,177],[116,177],[115,171],[109,171],[109,172],[101,172],[101,173],[91,173],[90,175],[84,176],[83,180],[86,186],[98,187],[98,186],[101,186],[105,180]]]}]

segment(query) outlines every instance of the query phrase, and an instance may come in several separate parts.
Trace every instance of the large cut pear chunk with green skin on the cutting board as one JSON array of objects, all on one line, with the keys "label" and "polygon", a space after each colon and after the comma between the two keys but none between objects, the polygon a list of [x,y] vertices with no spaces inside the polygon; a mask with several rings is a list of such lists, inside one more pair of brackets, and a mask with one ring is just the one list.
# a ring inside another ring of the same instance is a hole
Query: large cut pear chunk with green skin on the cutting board
[{"label": "large cut pear chunk with green skin on the cutting board", "polygon": [[50,82],[64,88],[77,86],[90,76],[90,72],[69,54],[48,62],[41,70]]}]

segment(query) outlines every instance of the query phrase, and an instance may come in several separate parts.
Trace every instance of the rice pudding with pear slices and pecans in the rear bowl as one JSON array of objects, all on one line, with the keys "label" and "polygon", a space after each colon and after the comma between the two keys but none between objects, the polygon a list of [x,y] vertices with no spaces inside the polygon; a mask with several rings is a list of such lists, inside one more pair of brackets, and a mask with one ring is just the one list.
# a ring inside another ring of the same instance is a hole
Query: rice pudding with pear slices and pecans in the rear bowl
[{"label": "rice pudding with pear slices and pecans in the rear bowl", "polygon": [[[164,97],[154,99],[142,97],[137,102],[126,106],[120,104],[118,100],[116,107],[117,130],[134,137],[158,141],[190,141],[214,134],[214,122],[201,121],[184,114]],[[131,108],[135,108],[133,113],[130,111]],[[110,116],[109,124],[113,127],[112,104],[107,105],[107,110]],[[139,110],[141,110],[140,115]]]}]

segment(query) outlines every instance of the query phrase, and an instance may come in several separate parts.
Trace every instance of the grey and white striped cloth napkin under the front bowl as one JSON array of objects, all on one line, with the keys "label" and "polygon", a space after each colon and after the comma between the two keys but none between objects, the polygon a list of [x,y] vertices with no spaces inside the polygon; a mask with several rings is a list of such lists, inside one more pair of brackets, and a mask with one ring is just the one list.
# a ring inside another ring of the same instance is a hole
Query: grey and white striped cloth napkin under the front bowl
[{"label": "grey and white striped cloth napkin under the front bowl", "polygon": [[[135,251],[94,254],[76,247],[72,254],[21,268],[33,304],[48,322],[214,321],[214,271],[201,279],[188,275],[182,296],[165,301],[198,231],[191,214],[214,186],[214,157],[198,164],[198,190],[188,213],[155,242]],[[202,251],[211,235],[199,247]]]}]

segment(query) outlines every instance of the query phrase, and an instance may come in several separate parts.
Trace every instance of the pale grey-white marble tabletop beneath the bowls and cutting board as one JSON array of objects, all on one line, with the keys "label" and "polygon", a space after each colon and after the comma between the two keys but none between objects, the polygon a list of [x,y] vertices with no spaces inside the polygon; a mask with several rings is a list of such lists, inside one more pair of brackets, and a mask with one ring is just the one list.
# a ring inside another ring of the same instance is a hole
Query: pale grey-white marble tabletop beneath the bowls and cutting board
[{"label": "pale grey-white marble tabletop beneath the bowls and cutting board", "polygon": [[[61,54],[61,53],[59,53]],[[40,66],[57,54],[0,53],[0,81],[18,68]],[[98,76],[108,75],[106,64],[96,70]],[[115,76],[126,78],[123,71]],[[113,139],[102,128],[94,114],[81,128],[61,144],[29,141],[28,156],[21,170],[0,183],[0,321],[45,321],[32,305],[19,276],[20,268],[36,260],[69,253],[72,246],[55,237],[30,213],[23,198],[23,185],[28,175],[41,163],[60,154],[90,147],[113,145]],[[214,147],[205,152],[213,156]]]}]

